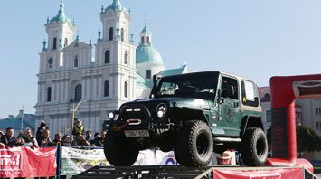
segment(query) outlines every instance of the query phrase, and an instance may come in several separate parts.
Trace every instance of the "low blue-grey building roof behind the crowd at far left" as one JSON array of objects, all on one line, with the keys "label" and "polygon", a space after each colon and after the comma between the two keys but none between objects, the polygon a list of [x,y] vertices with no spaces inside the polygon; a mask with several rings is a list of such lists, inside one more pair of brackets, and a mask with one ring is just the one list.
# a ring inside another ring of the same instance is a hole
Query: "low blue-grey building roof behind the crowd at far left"
[{"label": "low blue-grey building roof behind the crowd at far left", "polygon": [[[9,116],[0,120],[0,128],[5,129],[7,127],[13,127],[14,130],[21,130],[21,116]],[[34,131],[35,116],[33,114],[24,114],[23,128],[30,127]]]}]

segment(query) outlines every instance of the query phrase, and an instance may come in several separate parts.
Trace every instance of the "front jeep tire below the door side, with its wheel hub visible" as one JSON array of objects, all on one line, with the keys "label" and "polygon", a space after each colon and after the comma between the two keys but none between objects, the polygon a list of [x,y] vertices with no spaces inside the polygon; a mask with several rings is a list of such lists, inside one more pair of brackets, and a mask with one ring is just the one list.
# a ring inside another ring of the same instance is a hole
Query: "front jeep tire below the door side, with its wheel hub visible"
[{"label": "front jeep tire below the door side, with its wheel hub visible", "polygon": [[176,138],[175,157],[180,165],[206,166],[212,159],[212,132],[201,120],[187,121]]}]

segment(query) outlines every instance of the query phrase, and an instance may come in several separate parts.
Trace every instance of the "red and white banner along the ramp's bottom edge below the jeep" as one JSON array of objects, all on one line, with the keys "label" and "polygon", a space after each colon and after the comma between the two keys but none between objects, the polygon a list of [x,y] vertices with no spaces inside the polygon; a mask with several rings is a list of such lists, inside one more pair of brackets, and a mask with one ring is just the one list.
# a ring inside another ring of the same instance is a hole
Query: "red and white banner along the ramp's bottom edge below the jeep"
[{"label": "red and white banner along the ramp's bottom edge below the jeep", "polygon": [[217,179],[281,179],[281,178],[303,178],[302,168],[279,168],[261,170],[213,170],[213,178]]}]

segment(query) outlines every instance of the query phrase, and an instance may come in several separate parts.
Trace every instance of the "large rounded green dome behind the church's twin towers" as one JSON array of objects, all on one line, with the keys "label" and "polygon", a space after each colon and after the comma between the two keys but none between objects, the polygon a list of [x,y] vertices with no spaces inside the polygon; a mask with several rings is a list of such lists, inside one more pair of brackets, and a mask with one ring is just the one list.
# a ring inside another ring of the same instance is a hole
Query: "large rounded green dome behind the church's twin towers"
[{"label": "large rounded green dome behind the church's twin towers", "polygon": [[151,65],[164,65],[163,57],[151,44],[140,44],[136,49],[136,63],[149,63]]}]

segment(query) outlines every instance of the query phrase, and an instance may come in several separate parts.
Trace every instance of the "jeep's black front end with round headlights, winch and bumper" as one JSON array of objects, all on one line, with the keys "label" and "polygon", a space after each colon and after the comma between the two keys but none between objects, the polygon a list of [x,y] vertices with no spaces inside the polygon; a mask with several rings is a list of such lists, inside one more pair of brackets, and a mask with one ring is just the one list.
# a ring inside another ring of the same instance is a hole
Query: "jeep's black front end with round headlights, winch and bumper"
[{"label": "jeep's black front end with round headlights, winch and bumper", "polygon": [[166,116],[168,111],[165,103],[148,107],[142,104],[128,104],[120,111],[109,112],[109,127],[111,130],[123,131],[126,137],[156,137],[173,130],[174,123]]}]

